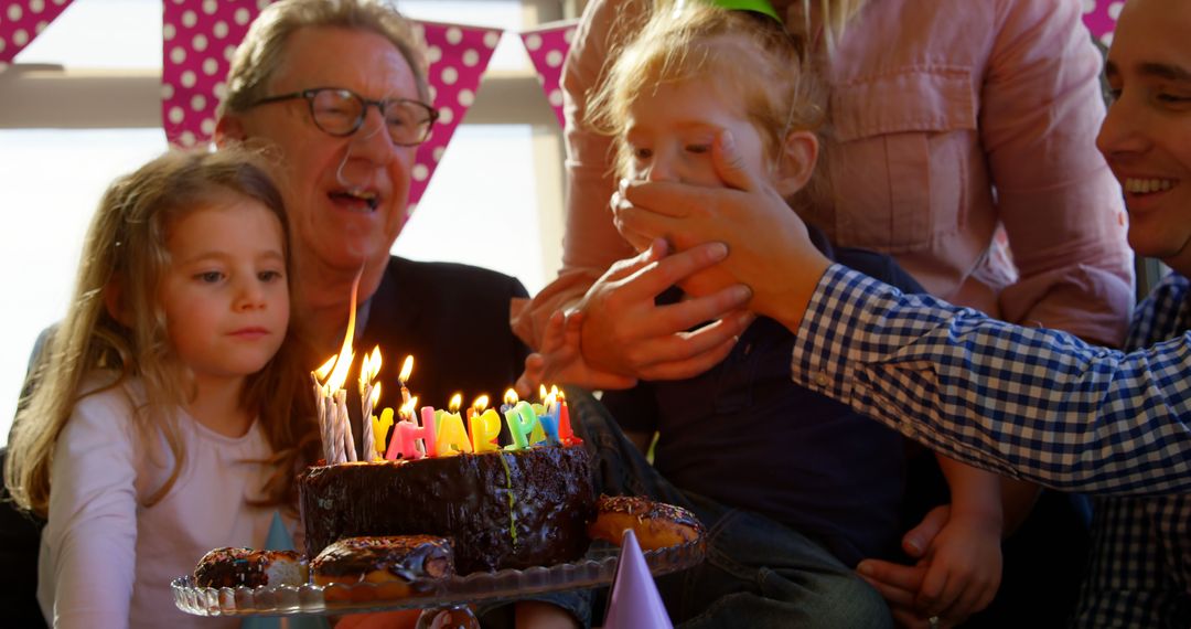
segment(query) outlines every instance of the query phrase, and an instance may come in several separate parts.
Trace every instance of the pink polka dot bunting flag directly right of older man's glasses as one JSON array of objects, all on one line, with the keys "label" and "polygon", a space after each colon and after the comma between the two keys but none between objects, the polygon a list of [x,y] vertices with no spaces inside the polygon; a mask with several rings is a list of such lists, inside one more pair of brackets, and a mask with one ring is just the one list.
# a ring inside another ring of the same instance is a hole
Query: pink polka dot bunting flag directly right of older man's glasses
[{"label": "pink polka dot bunting flag directly right of older man's glasses", "polygon": [[447,143],[475,100],[480,79],[503,31],[455,24],[420,23],[430,62],[430,95],[438,110],[430,139],[418,147],[410,185],[410,211],[426,191],[430,175],[447,150]]}]

